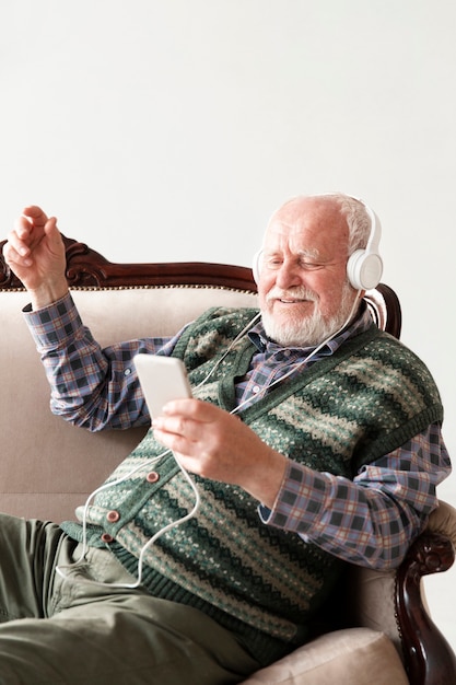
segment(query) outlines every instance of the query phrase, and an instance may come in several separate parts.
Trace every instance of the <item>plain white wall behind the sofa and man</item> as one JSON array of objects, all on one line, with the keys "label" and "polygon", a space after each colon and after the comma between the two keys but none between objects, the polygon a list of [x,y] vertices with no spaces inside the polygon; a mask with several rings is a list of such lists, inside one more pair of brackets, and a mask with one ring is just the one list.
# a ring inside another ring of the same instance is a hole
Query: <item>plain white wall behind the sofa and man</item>
[{"label": "plain white wall behind the sofa and man", "polygon": [[[455,22],[453,0],[2,0],[3,236],[37,202],[112,260],[249,265],[290,196],[359,195],[456,458]],[[429,592],[456,648],[455,579]]]}]

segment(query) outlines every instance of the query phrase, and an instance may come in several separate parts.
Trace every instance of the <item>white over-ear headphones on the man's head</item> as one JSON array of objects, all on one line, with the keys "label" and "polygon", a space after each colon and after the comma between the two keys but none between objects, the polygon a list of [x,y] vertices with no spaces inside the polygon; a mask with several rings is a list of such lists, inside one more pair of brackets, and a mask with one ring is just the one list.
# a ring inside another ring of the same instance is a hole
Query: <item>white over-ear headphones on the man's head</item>
[{"label": "white over-ear headphones on the man's head", "polygon": [[[347,262],[347,277],[355,290],[371,290],[378,286],[383,272],[383,262],[378,254],[382,225],[376,213],[359,198],[371,220],[371,234],[364,249],[355,249]],[[259,280],[262,248],[255,256],[252,265],[255,282]]]}]

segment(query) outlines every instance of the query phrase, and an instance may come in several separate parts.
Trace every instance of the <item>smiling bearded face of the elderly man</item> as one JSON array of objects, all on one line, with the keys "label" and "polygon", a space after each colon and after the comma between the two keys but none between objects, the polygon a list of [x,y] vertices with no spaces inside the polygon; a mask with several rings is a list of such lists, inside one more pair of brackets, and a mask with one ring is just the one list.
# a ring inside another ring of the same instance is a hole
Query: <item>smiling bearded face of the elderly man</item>
[{"label": "smiling bearded face of the elderly man", "polygon": [[347,280],[349,228],[329,198],[296,198],[272,217],[258,283],[268,337],[318,345],[350,314],[356,291]]}]

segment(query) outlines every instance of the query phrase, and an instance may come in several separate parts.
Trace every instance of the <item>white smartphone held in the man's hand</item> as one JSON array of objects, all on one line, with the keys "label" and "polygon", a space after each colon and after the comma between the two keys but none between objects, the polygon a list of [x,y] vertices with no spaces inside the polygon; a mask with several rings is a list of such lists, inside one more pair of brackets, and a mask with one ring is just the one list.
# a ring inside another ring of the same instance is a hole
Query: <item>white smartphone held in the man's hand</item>
[{"label": "white smartphone held in the man's hand", "polygon": [[191,397],[184,362],[175,357],[136,355],[135,365],[152,418],[162,414],[171,399]]}]

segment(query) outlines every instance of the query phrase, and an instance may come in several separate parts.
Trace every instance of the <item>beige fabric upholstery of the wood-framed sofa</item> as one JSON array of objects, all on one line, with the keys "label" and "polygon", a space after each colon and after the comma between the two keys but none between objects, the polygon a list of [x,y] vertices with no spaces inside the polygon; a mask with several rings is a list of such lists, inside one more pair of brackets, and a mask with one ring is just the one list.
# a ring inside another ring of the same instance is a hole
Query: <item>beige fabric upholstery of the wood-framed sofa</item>
[{"label": "beige fabric upholstery of the wood-framed sofa", "polygon": [[[167,335],[210,305],[256,303],[256,295],[218,288],[75,290],[82,318],[103,345],[148,335]],[[0,291],[0,509],[26,518],[61,521],[136,446],[144,430],[92,434],[49,411],[49,388],[21,309],[24,292]],[[454,526],[443,507],[436,530]],[[400,685],[395,620],[395,574],[352,569],[347,596],[351,625],[318,638],[246,683]]]}]

